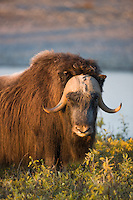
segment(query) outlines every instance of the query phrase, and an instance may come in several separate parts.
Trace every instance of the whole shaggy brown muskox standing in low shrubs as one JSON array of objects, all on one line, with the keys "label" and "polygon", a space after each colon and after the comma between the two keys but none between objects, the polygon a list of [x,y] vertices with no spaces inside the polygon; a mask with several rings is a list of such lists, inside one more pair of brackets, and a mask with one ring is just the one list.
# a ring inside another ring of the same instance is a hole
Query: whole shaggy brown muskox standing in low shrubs
[{"label": "whole shaggy brown muskox standing in low shrubs", "polygon": [[70,53],[44,51],[28,69],[0,77],[0,164],[24,155],[48,166],[80,162],[92,148],[106,76],[97,63]]}]

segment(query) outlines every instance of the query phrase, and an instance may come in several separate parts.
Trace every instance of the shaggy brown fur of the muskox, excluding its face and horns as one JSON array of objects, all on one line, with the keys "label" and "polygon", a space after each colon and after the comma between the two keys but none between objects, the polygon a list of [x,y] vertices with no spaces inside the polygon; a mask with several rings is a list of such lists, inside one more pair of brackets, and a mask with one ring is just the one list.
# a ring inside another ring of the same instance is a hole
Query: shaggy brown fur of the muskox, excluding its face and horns
[{"label": "shaggy brown fur of the muskox, excluding its face and horns", "polygon": [[75,75],[95,77],[102,90],[100,73],[95,61],[70,53],[46,51],[34,57],[26,71],[0,90],[0,164],[18,164],[27,153],[49,166],[82,160],[95,136],[72,136],[67,107],[47,114],[42,105],[55,106]]}]

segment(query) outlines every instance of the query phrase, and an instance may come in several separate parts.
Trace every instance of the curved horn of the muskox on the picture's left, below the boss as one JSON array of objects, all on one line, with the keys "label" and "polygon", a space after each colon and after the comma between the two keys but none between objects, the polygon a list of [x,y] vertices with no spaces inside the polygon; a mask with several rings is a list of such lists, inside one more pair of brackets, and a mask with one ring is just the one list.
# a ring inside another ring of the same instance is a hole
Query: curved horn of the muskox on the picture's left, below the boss
[{"label": "curved horn of the muskox on the picture's left, below the boss", "polygon": [[44,108],[44,107],[43,107],[43,110],[44,110],[46,113],[58,112],[58,111],[60,111],[61,109],[64,108],[64,106],[66,105],[66,101],[67,101],[67,99],[66,99],[66,97],[65,97],[65,95],[64,95],[64,93],[63,93],[60,102],[59,102],[54,108]]}]

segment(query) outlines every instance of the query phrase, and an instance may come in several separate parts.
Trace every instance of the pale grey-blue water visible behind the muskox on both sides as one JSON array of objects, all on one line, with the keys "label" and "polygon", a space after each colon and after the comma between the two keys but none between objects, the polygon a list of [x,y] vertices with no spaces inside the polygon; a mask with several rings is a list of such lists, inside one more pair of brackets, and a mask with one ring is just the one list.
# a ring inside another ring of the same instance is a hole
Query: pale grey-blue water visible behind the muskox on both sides
[{"label": "pale grey-blue water visible behind the muskox on both sides", "polygon": [[[24,67],[0,67],[0,75],[21,72]],[[121,119],[124,116],[125,122],[128,124],[128,137],[133,137],[133,73],[121,71],[104,71],[107,79],[104,84],[103,99],[106,105],[116,108],[120,103],[123,104],[122,109],[115,114],[108,114],[99,110],[98,117],[104,118],[105,128],[116,134],[119,127],[122,126]],[[120,129],[121,130],[121,129]]]}]

